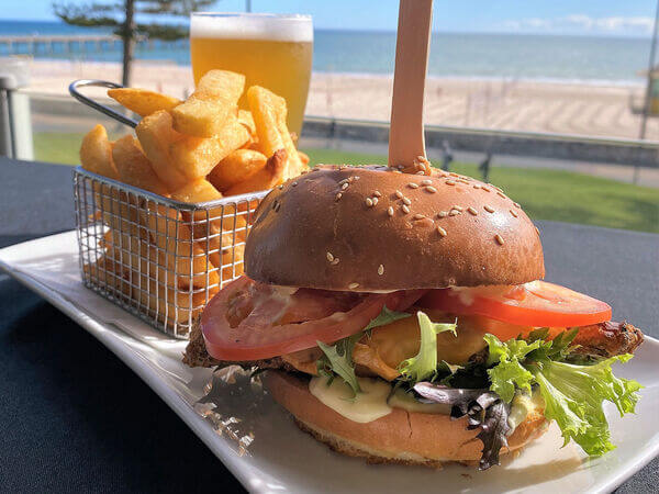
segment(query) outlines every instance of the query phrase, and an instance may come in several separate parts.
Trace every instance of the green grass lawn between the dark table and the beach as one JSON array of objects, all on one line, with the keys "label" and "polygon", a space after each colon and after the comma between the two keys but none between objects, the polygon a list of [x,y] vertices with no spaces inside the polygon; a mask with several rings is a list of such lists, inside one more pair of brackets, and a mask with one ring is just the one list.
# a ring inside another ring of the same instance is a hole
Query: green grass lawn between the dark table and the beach
[{"label": "green grass lawn between the dark table and the beach", "polygon": [[[35,159],[78,164],[81,134],[35,134]],[[334,149],[306,149],[311,162],[382,164],[384,156]],[[451,170],[479,178],[477,166]],[[490,181],[522,204],[534,220],[659,233],[659,191],[565,170],[494,166]]]}]

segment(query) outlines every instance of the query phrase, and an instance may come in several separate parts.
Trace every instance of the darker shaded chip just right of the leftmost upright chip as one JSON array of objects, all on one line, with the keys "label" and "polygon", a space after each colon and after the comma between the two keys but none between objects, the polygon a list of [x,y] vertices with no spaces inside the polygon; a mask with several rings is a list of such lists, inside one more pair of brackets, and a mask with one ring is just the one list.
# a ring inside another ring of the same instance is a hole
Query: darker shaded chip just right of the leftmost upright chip
[{"label": "darker shaded chip just right of the leftmost upright chip", "polygon": [[135,137],[125,135],[116,141],[112,146],[112,158],[122,182],[159,195],[167,195],[167,187],[139,149]]}]

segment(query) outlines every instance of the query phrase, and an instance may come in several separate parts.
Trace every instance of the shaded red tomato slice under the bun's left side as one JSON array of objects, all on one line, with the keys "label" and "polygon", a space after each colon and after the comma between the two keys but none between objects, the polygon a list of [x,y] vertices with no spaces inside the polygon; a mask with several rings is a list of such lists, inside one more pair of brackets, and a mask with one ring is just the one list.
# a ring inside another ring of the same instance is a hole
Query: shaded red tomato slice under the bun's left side
[{"label": "shaded red tomato slice under the bun's left side", "polygon": [[241,277],[206,305],[201,329],[219,360],[268,359],[359,333],[384,305],[403,311],[424,293],[288,290]]}]

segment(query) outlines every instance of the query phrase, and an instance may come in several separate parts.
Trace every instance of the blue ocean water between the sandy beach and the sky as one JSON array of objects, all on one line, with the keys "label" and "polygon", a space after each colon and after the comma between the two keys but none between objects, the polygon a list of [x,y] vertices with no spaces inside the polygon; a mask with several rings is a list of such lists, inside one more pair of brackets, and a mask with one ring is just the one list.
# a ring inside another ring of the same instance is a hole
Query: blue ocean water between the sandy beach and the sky
[{"label": "blue ocean water between the sandy beach and the sky", "polygon": [[[108,30],[69,26],[57,22],[0,21],[0,36],[31,34],[103,34]],[[395,33],[315,31],[315,71],[391,74]],[[518,34],[434,33],[431,46],[432,77],[543,79],[641,83],[647,67],[649,38],[556,36]],[[26,46],[22,47],[26,50]],[[5,48],[0,46],[0,56]],[[96,61],[121,60],[121,48],[92,46],[66,53],[41,50],[36,58],[75,58]],[[190,64],[189,43],[154,42],[139,45],[139,59]]]}]

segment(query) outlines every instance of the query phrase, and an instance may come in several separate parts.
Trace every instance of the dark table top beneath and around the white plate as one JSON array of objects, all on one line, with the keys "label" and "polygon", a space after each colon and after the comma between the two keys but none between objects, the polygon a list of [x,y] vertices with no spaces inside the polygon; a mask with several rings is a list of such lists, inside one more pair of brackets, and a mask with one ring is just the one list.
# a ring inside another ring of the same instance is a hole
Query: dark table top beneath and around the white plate
[{"label": "dark table top beneath and around the white plate", "polygon": [[[74,227],[71,170],[0,157],[0,247]],[[547,279],[659,337],[659,235],[538,222]],[[241,485],[86,330],[0,274],[0,492],[211,492]],[[135,413],[135,411],[139,411]],[[657,492],[659,459],[617,492]]]}]

